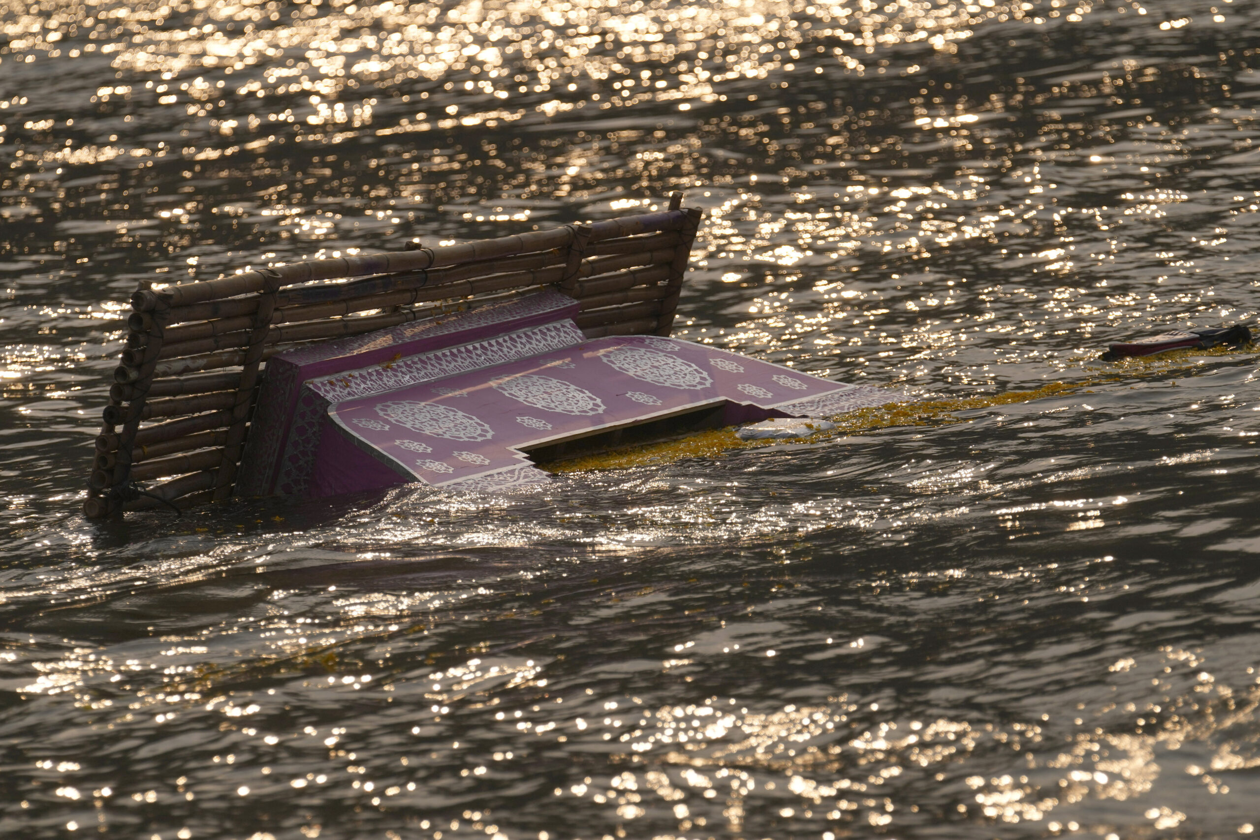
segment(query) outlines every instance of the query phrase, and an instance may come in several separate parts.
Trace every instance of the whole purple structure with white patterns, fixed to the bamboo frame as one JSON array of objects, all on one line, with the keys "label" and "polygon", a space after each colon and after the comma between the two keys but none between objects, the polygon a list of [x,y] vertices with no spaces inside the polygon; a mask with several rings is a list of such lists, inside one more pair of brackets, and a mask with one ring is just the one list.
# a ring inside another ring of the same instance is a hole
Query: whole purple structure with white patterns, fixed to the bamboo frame
[{"label": "whole purple structure with white patterns, fixed to the bamboo frame", "polygon": [[703,344],[587,340],[547,290],[276,355],[238,492],[329,496],[422,481],[546,481],[527,452],[721,407],[726,423],[881,406],[888,393]]}]

